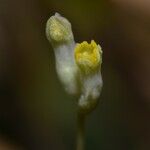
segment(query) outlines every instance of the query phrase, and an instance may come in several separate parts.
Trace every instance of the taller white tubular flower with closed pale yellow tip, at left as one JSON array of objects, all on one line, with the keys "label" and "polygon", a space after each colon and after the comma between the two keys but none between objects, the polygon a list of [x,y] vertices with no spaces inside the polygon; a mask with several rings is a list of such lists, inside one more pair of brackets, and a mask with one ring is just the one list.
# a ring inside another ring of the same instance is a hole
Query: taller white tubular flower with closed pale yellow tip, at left
[{"label": "taller white tubular flower with closed pale yellow tip, at left", "polygon": [[77,66],[74,61],[75,41],[70,22],[56,13],[47,21],[46,36],[54,49],[56,70],[60,81],[69,94],[77,94]]}]

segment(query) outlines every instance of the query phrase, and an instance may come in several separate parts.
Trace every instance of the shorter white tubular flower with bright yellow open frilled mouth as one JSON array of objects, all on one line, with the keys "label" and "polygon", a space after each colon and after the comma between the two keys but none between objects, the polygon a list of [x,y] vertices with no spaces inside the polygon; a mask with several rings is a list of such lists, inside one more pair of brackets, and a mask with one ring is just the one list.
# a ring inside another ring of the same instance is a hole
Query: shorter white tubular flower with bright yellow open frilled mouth
[{"label": "shorter white tubular flower with bright yellow open frilled mouth", "polygon": [[75,47],[75,61],[80,71],[81,97],[78,101],[82,113],[92,111],[98,102],[102,88],[102,50],[93,40],[82,42]]}]

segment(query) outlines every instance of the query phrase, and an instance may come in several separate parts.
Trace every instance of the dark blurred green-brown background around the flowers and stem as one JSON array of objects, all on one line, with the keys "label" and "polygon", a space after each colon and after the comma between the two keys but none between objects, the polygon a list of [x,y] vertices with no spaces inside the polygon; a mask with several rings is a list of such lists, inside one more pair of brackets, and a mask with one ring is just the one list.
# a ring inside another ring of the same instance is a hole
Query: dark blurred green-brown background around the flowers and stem
[{"label": "dark blurred green-brown background around the flowers and stem", "polygon": [[75,149],[76,105],[62,88],[47,19],[103,49],[104,86],[86,150],[150,149],[150,1],[0,0],[0,150]]}]

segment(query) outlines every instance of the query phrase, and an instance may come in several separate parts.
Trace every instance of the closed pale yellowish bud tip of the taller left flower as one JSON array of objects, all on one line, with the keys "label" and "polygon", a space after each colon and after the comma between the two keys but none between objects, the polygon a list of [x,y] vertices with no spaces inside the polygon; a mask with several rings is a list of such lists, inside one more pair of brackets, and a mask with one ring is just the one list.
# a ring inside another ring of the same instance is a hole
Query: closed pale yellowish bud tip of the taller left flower
[{"label": "closed pale yellowish bud tip of the taller left flower", "polygon": [[46,35],[49,41],[68,41],[73,38],[70,22],[56,13],[46,24]]}]

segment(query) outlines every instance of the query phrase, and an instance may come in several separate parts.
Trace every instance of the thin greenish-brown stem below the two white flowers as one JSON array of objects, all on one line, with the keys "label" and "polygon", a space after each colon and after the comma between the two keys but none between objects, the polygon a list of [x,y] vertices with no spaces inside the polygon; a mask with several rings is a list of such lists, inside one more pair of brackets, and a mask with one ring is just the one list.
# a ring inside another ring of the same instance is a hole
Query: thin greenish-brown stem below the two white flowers
[{"label": "thin greenish-brown stem below the two white flowers", "polygon": [[85,150],[85,114],[78,112],[77,115],[77,149]]}]

